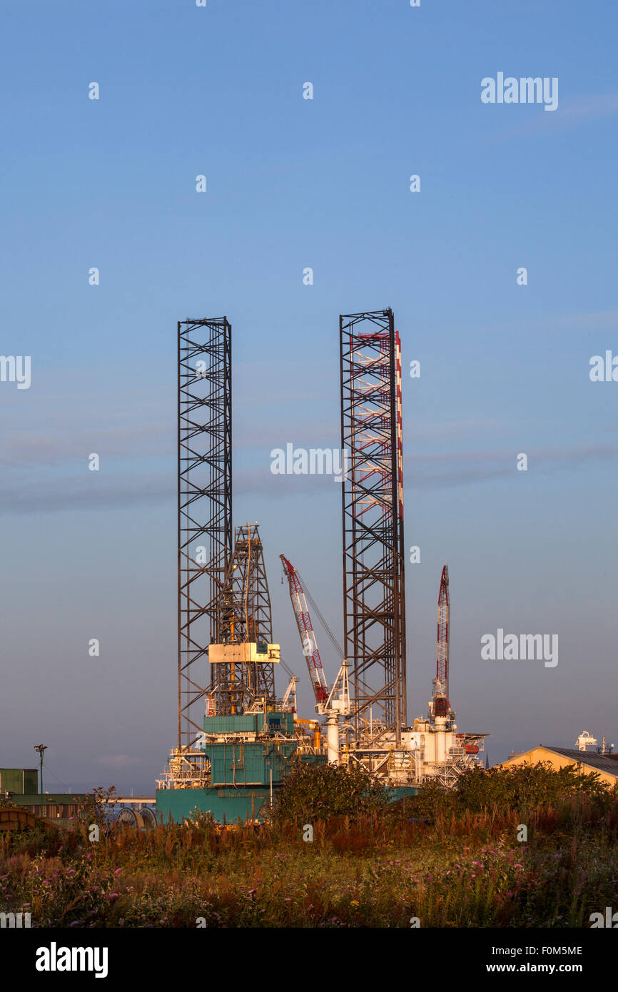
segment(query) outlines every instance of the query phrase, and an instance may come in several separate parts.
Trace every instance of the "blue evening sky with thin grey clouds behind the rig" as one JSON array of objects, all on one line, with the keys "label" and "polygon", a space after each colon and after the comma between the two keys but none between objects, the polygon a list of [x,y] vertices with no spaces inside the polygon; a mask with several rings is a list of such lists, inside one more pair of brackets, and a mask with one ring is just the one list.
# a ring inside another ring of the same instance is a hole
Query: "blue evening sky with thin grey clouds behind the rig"
[{"label": "blue evening sky with thin grey clouds behind the rig", "polygon": [[[235,523],[261,525],[312,712],[278,556],[340,635],[340,492],[271,475],[269,455],[337,444],[338,314],[389,306],[404,371],[422,367],[403,392],[410,718],[427,713],[447,561],[459,729],[490,733],[492,762],[584,727],[618,745],[618,384],[588,375],[618,354],[616,5],[1,17],[1,350],[32,356],[32,385],[0,383],[0,765],[35,764],[43,740],[73,789],[152,788],[174,744],[186,316],[232,323]],[[558,108],[483,104],[498,71],[556,76]],[[498,627],[557,633],[556,669],[483,662]]]}]

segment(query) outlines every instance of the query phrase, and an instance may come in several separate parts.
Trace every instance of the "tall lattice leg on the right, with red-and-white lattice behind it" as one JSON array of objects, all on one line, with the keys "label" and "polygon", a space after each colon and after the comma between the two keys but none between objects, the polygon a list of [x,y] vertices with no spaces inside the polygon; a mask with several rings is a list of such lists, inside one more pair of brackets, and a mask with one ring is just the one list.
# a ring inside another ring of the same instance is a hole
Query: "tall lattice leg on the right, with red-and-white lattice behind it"
[{"label": "tall lattice leg on the right, with red-and-white lattice behind it", "polygon": [[406,725],[401,347],[392,310],[339,317],[343,625],[357,745]]}]

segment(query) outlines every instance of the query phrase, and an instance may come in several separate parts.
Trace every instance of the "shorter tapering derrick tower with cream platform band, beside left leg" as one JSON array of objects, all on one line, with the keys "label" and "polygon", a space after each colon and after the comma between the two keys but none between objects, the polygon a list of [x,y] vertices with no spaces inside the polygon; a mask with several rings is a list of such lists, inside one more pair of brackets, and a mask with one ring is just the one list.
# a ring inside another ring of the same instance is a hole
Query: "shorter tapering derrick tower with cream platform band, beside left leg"
[{"label": "shorter tapering derrick tower with cream platform band, beside left leg", "polygon": [[[271,597],[257,524],[236,528],[234,552],[218,602],[220,644],[265,641],[272,644]],[[275,698],[273,662],[213,665],[213,710],[217,716],[245,712],[256,699]]]}]

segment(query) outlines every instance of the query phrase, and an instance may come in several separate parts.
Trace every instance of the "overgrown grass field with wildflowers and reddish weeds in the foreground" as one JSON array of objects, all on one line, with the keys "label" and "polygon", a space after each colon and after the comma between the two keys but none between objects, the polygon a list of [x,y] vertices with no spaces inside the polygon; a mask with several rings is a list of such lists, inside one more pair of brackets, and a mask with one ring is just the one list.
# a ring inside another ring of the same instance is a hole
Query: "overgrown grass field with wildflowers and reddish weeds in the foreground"
[{"label": "overgrown grass field with wildflowers and reddish weeds in the foreground", "polygon": [[589,927],[618,906],[616,794],[533,794],[524,810],[474,811],[429,791],[428,822],[409,802],[315,819],[312,841],[299,822],[222,830],[207,816],[101,826],[98,841],[85,821],[14,833],[0,838],[0,908],[43,928]]}]

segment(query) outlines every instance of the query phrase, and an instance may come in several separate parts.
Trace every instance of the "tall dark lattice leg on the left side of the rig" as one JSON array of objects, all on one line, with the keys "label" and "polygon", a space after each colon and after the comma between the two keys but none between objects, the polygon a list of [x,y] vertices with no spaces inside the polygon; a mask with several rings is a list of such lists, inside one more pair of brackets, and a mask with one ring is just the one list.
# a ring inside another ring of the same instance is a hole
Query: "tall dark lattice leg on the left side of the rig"
[{"label": "tall dark lattice leg on the left side of the rig", "polygon": [[203,732],[207,649],[232,549],[231,330],[224,316],[179,321],[179,749]]}]

